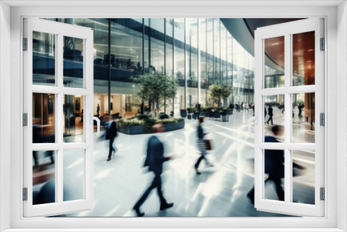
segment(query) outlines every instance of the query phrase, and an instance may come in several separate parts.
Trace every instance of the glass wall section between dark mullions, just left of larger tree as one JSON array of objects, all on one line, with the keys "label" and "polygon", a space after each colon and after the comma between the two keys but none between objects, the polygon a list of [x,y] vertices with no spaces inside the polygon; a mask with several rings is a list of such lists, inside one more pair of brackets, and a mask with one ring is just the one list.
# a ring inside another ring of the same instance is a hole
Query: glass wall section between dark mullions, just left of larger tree
[{"label": "glass wall section between dark mullions, just left of larger tree", "polygon": [[[131,77],[144,71],[142,19],[110,19],[110,114],[113,117],[133,117],[141,112],[142,99],[137,97],[137,85]],[[107,92],[101,101],[108,104]],[[101,109],[108,115],[108,108]]]}]

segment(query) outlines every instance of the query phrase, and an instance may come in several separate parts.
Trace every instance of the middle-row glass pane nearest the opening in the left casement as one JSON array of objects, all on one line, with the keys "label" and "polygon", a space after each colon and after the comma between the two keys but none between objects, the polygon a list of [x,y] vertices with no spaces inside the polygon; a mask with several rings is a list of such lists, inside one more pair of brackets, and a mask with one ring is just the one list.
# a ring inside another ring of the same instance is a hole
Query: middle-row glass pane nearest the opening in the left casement
[{"label": "middle-row glass pane nearest the opening in the left casement", "polygon": [[84,97],[65,94],[62,102],[64,142],[83,142]]}]

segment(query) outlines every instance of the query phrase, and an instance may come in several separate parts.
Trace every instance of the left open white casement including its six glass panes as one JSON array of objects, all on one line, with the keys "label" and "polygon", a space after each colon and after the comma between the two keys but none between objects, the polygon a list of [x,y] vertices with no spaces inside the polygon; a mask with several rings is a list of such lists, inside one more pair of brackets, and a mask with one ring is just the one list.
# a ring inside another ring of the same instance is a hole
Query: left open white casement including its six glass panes
[{"label": "left open white casement including its six glass panes", "polygon": [[93,31],[24,19],[23,50],[24,217],[90,210]]}]

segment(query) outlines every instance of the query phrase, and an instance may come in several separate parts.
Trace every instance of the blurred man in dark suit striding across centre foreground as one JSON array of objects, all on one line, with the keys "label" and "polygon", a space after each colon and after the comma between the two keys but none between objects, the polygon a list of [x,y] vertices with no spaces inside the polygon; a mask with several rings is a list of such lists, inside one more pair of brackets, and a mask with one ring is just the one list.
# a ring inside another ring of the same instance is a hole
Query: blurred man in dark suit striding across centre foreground
[{"label": "blurred man in dark suit striding across centre foreground", "polygon": [[[162,133],[165,131],[162,124],[155,124],[152,129],[155,133]],[[164,199],[164,196],[162,194],[162,179],[160,177],[160,175],[162,174],[162,164],[167,160],[171,160],[172,158],[173,156],[171,155],[164,156],[164,145],[162,144],[162,142],[160,142],[157,136],[152,135],[151,138],[149,138],[149,142],[147,144],[147,156],[144,162],[144,167],[149,167],[149,171],[153,172],[155,174],[155,177],[149,188],[147,188],[144,194],[142,194],[142,197],[139,198],[139,200],[133,207],[133,210],[135,210],[137,217],[142,217],[144,215],[144,213],[139,210],[139,207],[144,204],[144,201],[146,201],[149,193],[154,188],[157,188],[158,196],[160,199],[160,210],[165,210],[174,206],[174,203],[167,203],[167,200]]]}]

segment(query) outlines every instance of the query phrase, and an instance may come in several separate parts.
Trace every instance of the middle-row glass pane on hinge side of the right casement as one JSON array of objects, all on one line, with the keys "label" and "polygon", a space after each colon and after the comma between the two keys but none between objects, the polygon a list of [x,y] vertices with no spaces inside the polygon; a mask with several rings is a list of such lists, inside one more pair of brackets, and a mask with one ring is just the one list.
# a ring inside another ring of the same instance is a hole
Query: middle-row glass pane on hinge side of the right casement
[{"label": "middle-row glass pane on hinge side of the right casement", "polygon": [[293,142],[315,141],[314,92],[292,94]]}]

